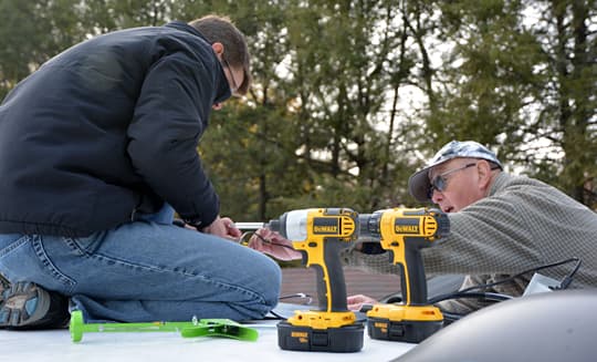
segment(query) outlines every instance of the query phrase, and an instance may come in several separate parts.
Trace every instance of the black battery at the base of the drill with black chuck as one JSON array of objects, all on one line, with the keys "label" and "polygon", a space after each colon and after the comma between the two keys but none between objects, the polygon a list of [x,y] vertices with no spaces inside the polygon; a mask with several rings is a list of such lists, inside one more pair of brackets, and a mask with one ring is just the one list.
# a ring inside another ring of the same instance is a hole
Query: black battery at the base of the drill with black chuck
[{"label": "black battery at the base of the drill with black chuck", "polygon": [[367,332],[374,340],[419,343],[439,331],[443,321],[390,321],[368,318]]}]

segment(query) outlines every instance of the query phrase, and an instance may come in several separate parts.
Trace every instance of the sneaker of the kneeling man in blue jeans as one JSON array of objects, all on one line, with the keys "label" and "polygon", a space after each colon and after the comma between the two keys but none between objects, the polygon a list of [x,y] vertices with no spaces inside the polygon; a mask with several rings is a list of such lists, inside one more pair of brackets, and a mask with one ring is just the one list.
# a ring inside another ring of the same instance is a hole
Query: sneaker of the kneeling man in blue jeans
[{"label": "sneaker of the kneeling man in blue jeans", "polygon": [[69,300],[40,286],[20,281],[3,291],[0,329],[56,329],[69,323]]}]

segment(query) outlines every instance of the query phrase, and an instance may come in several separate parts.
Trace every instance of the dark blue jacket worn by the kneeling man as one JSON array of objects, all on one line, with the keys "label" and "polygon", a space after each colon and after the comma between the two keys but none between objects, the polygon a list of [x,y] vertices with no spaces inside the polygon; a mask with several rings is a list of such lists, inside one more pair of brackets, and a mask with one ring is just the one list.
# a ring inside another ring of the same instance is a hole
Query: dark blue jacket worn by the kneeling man
[{"label": "dark blue jacket worn by the kneeling man", "polygon": [[181,22],[56,55],[0,105],[0,234],[86,236],[164,201],[209,225],[219,199],[197,144],[229,96],[210,44]]}]

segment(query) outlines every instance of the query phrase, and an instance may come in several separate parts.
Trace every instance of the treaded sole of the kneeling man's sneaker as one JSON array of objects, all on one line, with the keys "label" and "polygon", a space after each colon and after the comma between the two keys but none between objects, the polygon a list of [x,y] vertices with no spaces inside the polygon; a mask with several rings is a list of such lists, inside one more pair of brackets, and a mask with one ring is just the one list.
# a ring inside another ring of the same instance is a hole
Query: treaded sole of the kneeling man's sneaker
[{"label": "treaded sole of the kneeling man's sneaker", "polygon": [[17,282],[3,291],[0,329],[33,327],[50,309],[50,294],[32,282]]}]

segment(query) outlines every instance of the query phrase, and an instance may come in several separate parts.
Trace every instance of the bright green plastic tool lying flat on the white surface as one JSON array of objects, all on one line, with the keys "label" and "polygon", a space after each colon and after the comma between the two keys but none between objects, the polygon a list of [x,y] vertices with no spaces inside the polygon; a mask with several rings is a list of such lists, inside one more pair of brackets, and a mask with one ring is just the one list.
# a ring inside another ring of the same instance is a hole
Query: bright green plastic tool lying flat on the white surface
[{"label": "bright green plastic tool lying flat on the white surface", "polygon": [[85,323],[80,310],[71,313],[69,330],[73,342],[80,342],[83,333],[90,332],[180,332],[184,338],[227,337],[241,341],[256,341],[259,337],[256,330],[230,319],[193,318],[190,322]]}]

